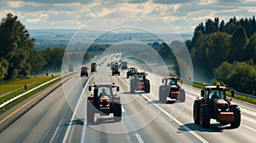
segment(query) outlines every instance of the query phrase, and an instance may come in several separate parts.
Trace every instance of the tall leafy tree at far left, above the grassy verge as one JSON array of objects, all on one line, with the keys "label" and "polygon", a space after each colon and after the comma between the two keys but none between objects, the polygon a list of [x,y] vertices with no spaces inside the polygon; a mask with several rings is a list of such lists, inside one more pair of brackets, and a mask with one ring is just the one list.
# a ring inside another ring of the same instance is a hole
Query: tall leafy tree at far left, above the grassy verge
[{"label": "tall leafy tree at far left, above the grassy verge", "polygon": [[9,62],[8,74],[5,80],[17,77],[26,77],[30,74],[30,65],[33,38],[25,26],[18,20],[18,16],[7,14],[0,24],[0,57]]}]

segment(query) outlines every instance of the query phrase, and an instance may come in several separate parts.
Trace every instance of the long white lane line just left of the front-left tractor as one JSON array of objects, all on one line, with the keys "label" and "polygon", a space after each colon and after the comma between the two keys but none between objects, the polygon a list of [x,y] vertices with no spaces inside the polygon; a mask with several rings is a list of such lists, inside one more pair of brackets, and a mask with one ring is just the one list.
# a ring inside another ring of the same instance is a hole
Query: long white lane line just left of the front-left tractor
[{"label": "long white lane line just left of the front-left tractor", "polygon": [[[90,76],[90,77],[92,77],[92,76]],[[89,79],[87,80],[87,82],[86,82],[86,84],[85,84],[84,87],[87,87],[87,84],[89,83],[88,81],[90,80],[90,77],[89,77]],[[79,103],[77,104],[75,110],[73,111],[73,116],[71,117],[71,121],[73,121],[73,120],[75,119],[76,112],[78,111],[78,108],[79,108],[79,104],[80,104],[81,101],[83,101],[81,98],[82,98],[82,96],[83,96],[82,94],[84,93],[84,90],[85,90],[85,88],[82,90],[82,93],[80,94]],[[72,127],[72,126],[70,126],[71,123],[72,123],[72,122],[69,122],[69,123],[68,123],[67,131],[66,131],[66,134],[65,134],[64,139],[62,140],[62,142],[69,142],[69,141],[67,141],[67,136],[68,136],[68,134],[69,134],[69,132],[70,132],[70,130],[71,130],[71,127]],[[86,123],[86,120],[84,120],[84,123]],[[83,129],[83,133],[84,133],[84,130],[85,130],[85,129]],[[84,135],[83,135],[83,137],[84,137]],[[84,139],[84,138],[82,138],[82,139]]]}]

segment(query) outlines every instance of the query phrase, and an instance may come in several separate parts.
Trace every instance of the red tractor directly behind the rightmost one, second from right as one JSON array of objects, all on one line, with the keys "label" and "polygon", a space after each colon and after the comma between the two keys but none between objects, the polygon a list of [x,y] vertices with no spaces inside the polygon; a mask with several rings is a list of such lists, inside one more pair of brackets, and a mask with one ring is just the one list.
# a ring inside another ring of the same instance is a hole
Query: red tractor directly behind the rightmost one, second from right
[{"label": "red tractor directly behind the rightmost one, second from right", "polygon": [[181,84],[177,83],[176,77],[164,77],[162,85],[159,87],[159,100],[166,103],[166,98],[175,99],[176,102],[184,102],[186,99],[185,90],[182,89]]}]

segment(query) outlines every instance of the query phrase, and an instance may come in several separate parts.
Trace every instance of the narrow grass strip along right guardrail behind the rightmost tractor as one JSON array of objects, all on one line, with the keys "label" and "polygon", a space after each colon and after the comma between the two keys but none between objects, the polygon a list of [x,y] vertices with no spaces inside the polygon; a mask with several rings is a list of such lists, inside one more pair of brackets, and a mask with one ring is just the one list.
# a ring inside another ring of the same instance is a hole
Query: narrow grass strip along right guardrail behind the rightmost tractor
[{"label": "narrow grass strip along right guardrail behind the rightmost tractor", "polygon": [[[187,83],[189,85],[191,85],[192,83],[191,82],[188,82],[188,81],[183,81],[183,83]],[[196,88],[199,88],[199,89],[203,89],[203,85],[201,84],[198,84],[198,83],[193,83],[193,86],[196,87]],[[200,93],[199,93],[200,94]],[[231,93],[230,92],[227,92],[227,96],[230,96],[231,97]],[[243,101],[247,101],[249,103],[253,103],[256,105],[256,99],[253,99],[253,98],[250,98],[250,97],[246,97],[246,96],[243,96],[241,94],[236,94],[235,93],[235,96],[234,96],[234,99],[237,99],[237,100],[243,100]]]}]

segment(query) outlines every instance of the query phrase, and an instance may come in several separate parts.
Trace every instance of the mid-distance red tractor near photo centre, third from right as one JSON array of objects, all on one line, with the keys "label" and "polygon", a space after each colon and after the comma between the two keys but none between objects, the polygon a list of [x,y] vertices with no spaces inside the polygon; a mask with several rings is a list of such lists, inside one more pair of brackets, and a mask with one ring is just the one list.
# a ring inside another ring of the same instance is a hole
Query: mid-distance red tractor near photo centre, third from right
[{"label": "mid-distance red tractor near photo centre, third from right", "polygon": [[135,90],[144,91],[146,94],[150,93],[150,83],[146,78],[148,76],[145,72],[137,72],[133,75],[130,82],[131,93],[134,94]]}]

